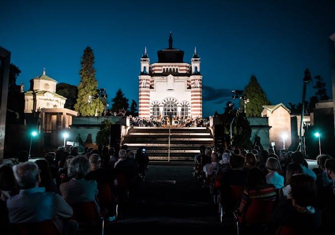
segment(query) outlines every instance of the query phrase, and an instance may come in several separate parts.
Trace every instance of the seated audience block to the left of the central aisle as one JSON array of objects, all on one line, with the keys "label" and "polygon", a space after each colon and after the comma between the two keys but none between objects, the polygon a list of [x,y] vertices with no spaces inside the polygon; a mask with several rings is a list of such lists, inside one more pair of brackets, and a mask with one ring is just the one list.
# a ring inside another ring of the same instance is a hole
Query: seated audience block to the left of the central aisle
[{"label": "seated audience block to the left of the central aisle", "polygon": [[[1,234],[20,234],[16,225],[43,221],[52,221],[58,234],[76,234],[87,220],[98,230],[102,216],[116,216],[116,205],[135,199],[148,161],[143,148],[133,153],[127,146],[115,153],[99,145],[82,154],[60,146],[36,161],[21,152],[16,165],[0,165]],[[90,205],[93,219],[83,216]]]}]

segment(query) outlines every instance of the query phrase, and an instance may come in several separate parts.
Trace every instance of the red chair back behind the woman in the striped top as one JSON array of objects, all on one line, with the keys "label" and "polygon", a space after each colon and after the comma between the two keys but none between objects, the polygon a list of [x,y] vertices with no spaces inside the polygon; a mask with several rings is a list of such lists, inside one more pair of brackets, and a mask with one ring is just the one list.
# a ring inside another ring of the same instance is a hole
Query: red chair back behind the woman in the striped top
[{"label": "red chair back behind the woman in the striped top", "polygon": [[253,198],[244,213],[244,221],[247,224],[266,224],[275,208],[275,201]]}]

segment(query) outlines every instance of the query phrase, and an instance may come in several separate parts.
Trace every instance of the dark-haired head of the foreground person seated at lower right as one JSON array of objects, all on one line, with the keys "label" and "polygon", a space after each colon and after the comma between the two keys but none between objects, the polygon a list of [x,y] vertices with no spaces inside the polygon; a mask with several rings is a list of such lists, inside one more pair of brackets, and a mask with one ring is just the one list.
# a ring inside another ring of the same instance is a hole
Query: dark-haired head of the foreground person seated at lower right
[{"label": "dark-haired head of the foreground person seated at lower right", "polygon": [[316,184],[314,179],[305,174],[294,175],[290,180],[293,206],[311,206],[316,200]]}]

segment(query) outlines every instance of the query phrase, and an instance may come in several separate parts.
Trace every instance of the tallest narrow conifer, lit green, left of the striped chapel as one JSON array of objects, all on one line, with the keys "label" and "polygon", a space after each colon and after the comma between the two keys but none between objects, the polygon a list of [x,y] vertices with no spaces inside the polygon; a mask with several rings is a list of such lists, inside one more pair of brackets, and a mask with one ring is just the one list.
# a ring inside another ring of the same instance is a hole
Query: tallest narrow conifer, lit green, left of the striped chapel
[{"label": "tallest narrow conifer, lit green, left of the striped chapel", "polygon": [[105,106],[97,93],[98,81],[96,79],[96,70],[93,67],[94,54],[91,47],[87,47],[84,50],[80,64],[80,83],[74,109],[82,116],[94,116],[96,112],[100,115],[104,111]]}]

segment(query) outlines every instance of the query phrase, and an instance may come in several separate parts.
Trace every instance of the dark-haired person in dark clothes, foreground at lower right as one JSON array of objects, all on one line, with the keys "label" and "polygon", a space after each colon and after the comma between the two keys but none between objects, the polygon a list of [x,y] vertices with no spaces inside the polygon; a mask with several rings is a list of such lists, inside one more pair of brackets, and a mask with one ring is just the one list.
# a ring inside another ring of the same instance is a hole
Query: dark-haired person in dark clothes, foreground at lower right
[{"label": "dark-haired person in dark clothes, foreground at lower right", "polygon": [[271,219],[273,230],[280,226],[288,226],[295,228],[299,234],[317,234],[316,229],[321,225],[321,216],[315,207],[314,179],[305,174],[294,175],[290,185],[292,199],[278,204]]}]

